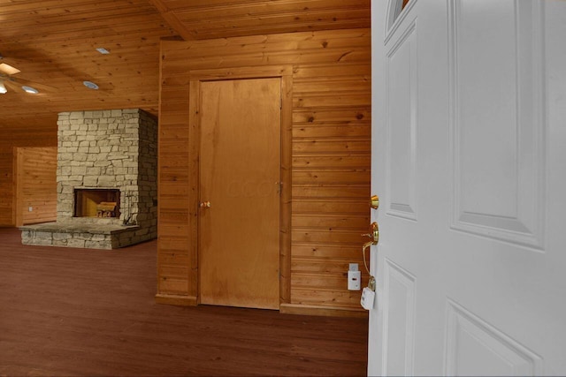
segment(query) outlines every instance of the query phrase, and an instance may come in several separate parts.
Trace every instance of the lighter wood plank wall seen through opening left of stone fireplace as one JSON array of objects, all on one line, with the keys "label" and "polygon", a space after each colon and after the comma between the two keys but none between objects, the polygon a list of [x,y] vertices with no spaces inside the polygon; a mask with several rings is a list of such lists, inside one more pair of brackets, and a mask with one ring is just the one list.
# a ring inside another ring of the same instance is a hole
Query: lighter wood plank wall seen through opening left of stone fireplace
[{"label": "lighter wood plank wall seen through opening left of stone fireplace", "polygon": [[17,226],[57,219],[57,147],[16,148],[16,191]]}]

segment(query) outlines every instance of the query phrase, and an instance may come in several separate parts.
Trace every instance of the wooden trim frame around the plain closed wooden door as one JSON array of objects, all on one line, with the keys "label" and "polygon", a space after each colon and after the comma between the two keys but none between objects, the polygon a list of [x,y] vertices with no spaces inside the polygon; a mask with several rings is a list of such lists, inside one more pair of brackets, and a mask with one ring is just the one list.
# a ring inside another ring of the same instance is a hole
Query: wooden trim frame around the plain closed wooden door
[{"label": "wooden trim frame around the plain closed wooden door", "polygon": [[199,194],[200,194],[200,87],[204,81],[232,79],[281,80],[281,195],[279,197],[279,305],[291,299],[291,165],[293,125],[293,66],[270,65],[265,67],[221,68],[189,72],[189,192],[188,227],[189,296],[200,303],[199,290]]}]

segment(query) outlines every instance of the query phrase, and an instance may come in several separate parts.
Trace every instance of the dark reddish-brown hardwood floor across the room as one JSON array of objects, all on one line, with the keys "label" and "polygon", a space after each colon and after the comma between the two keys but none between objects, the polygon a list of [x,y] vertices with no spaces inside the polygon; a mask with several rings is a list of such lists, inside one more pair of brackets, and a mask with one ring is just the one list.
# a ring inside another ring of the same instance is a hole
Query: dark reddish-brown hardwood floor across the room
[{"label": "dark reddish-brown hardwood floor across the room", "polygon": [[156,241],[20,244],[0,228],[0,375],[365,375],[367,320],[157,305]]}]

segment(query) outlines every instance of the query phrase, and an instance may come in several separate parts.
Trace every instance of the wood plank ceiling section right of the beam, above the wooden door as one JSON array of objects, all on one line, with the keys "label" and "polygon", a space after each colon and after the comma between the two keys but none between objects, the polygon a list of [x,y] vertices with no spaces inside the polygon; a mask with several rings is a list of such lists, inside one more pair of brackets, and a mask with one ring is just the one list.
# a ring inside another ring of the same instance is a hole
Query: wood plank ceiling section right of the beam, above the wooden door
[{"label": "wood plank ceiling section right of the beam, above the wooden door", "polygon": [[152,0],[186,40],[370,26],[369,0]]}]

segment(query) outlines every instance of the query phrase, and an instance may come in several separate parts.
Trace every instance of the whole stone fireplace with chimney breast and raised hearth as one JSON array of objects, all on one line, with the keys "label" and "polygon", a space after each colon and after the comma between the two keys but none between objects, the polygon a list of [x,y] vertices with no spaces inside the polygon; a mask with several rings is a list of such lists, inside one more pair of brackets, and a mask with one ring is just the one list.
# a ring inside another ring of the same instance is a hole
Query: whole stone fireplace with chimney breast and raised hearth
[{"label": "whole stone fireplace with chimney breast and raised hearth", "polygon": [[57,222],[22,243],[112,249],[157,238],[157,120],[141,109],[60,113]]}]

